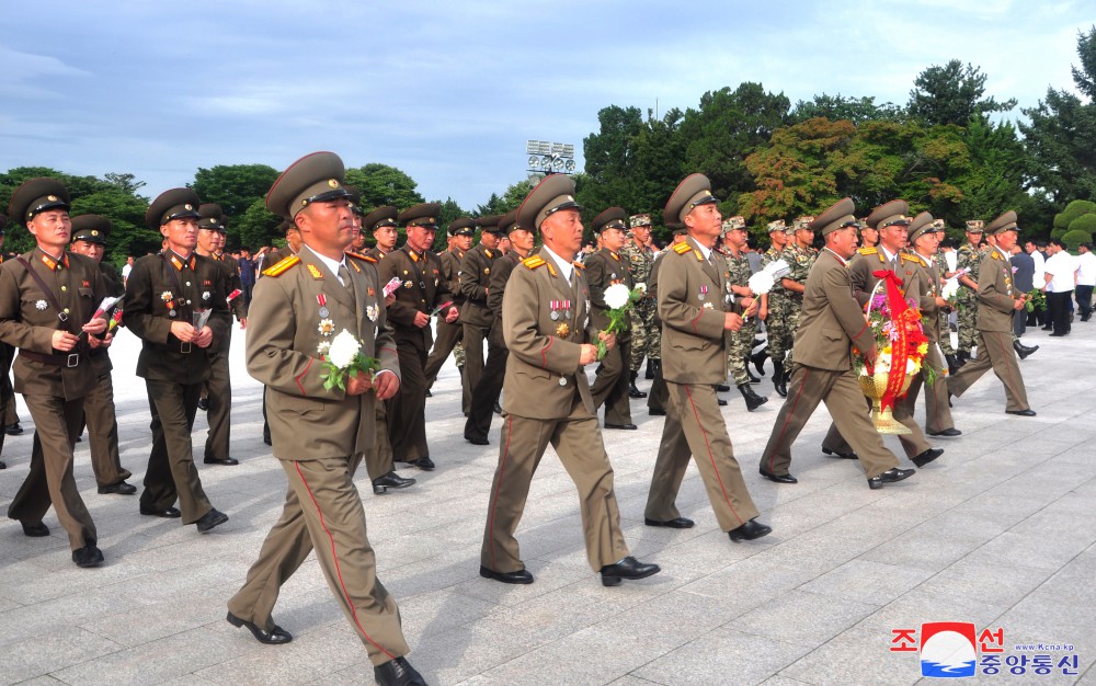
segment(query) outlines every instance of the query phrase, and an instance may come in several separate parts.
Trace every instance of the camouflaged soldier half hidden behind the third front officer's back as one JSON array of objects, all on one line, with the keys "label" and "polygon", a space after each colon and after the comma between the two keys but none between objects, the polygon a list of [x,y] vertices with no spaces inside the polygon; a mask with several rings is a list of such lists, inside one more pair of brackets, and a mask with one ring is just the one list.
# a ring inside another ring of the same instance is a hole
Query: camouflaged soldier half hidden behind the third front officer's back
[{"label": "camouflaged soldier half hidden behind the third front officer's back", "polygon": [[[629,241],[620,249],[620,256],[628,262],[628,271],[636,288],[647,289],[651,278],[651,267],[654,266],[657,251],[651,245],[651,216],[632,215],[628,218]],[[662,364],[662,330],[655,320],[657,302],[652,295],[644,295],[629,310],[631,318],[631,353],[628,368],[631,375],[631,386],[628,395],[632,398],[647,398],[647,393],[636,387],[639,368],[647,357],[647,378],[654,378],[659,365]]]}]

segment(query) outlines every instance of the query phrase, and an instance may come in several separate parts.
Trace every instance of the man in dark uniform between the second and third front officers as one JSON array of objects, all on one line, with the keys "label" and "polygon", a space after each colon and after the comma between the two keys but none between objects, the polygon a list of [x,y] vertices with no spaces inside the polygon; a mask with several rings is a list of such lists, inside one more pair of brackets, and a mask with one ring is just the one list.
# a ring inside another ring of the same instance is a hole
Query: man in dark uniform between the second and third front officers
[{"label": "man in dark uniform between the second and third front officers", "polygon": [[[628,213],[623,207],[609,207],[593,220],[594,233],[601,237],[602,248],[583,261],[586,284],[590,286],[590,320],[598,331],[609,325],[606,313],[605,289],[616,284],[631,290],[635,283],[628,260],[620,255],[620,249],[628,240]],[[605,354],[590,395],[594,408],[605,405],[605,428],[635,430],[628,390],[631,386],[629,365],[631,363],[631,321],[624,331],[616,334],[616,345]]]}]

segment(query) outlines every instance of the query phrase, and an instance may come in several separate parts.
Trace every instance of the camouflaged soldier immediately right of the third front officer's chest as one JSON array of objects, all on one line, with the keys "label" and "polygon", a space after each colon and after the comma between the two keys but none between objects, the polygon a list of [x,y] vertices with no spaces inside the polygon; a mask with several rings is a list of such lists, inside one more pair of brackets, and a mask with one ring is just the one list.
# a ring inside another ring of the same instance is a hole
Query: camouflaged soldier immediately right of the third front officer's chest
[{"label": "camouflaged soldier immediately right of the third front officer's chest", "polygon": [[746,401],[746,410],[753,412],[761,405],[768,402],[768,398],[763,398],[751,388],[750,371],[746,368],[750,352],[753,348],[754,335],[757,333],[757,298],[750,289],[750,260],[744,251],[746,245],[746,221],[742,217],[730,217],[723,221],[723,230],[720,236],[720,243],[717,250],[723,255],[727,263],[727,275],[723,283],[727,284],[727,295],[731,296],[734,304],[733,311],[745,318],[742,328],[738,331],[728,331],[727,345],[727,368],[734,378],[734,385],[739,387],[739,392]]}]

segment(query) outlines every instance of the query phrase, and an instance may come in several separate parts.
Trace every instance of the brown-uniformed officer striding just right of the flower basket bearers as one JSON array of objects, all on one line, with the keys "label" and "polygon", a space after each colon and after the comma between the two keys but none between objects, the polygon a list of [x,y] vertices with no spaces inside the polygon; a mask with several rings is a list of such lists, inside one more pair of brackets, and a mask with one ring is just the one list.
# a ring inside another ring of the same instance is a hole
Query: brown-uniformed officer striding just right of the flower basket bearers
[{"label": "brown-uniformed officer striding just right of the flower basket bearers", "polygon": [[922,324],[928,336],[928,353],[922,364],[933,370],[936,379],[933,384],[925,385],[924,376],[915,375],[905,397],[894,402],[894,418],[903,424],[906,418],[912,420],[917,395],[921,387],[925,386],[925,432],[929,436],[959,436],[962,432],[955,427],[951,410],[948,408],[946,367],[939,350],[939,317],[947,310],[948,301],[940,297],[940,276],[933,258],[944,236],[944,227],[936,226],[933,216],[923,211],[913,218],[907,231],[911,249],[902,255],[902,273],[899,276],[902,277],[905,296],[916,300],[921,309]]}]

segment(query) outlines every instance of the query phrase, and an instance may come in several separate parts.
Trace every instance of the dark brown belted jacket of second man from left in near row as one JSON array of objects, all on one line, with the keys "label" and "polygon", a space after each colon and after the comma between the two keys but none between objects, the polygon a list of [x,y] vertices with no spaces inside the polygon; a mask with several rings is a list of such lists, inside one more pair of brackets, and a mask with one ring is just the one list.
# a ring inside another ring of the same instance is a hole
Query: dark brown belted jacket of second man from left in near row
[{"label": "dark brown belted jacket of second man from left in near row", "polygon": [[[183,260],[171,251],[134,263],[126,283],[122,321],[141,339],[137,376],[156,381],[198,384],[209,377],[209,354],[232,323],[221,265],[192,253]],[[213,343],[207,348],[183,343],[171,333],[175,321],[193,323],[193,312],[210,309]],[[186,351],[186,352],[184,352]]]}]

